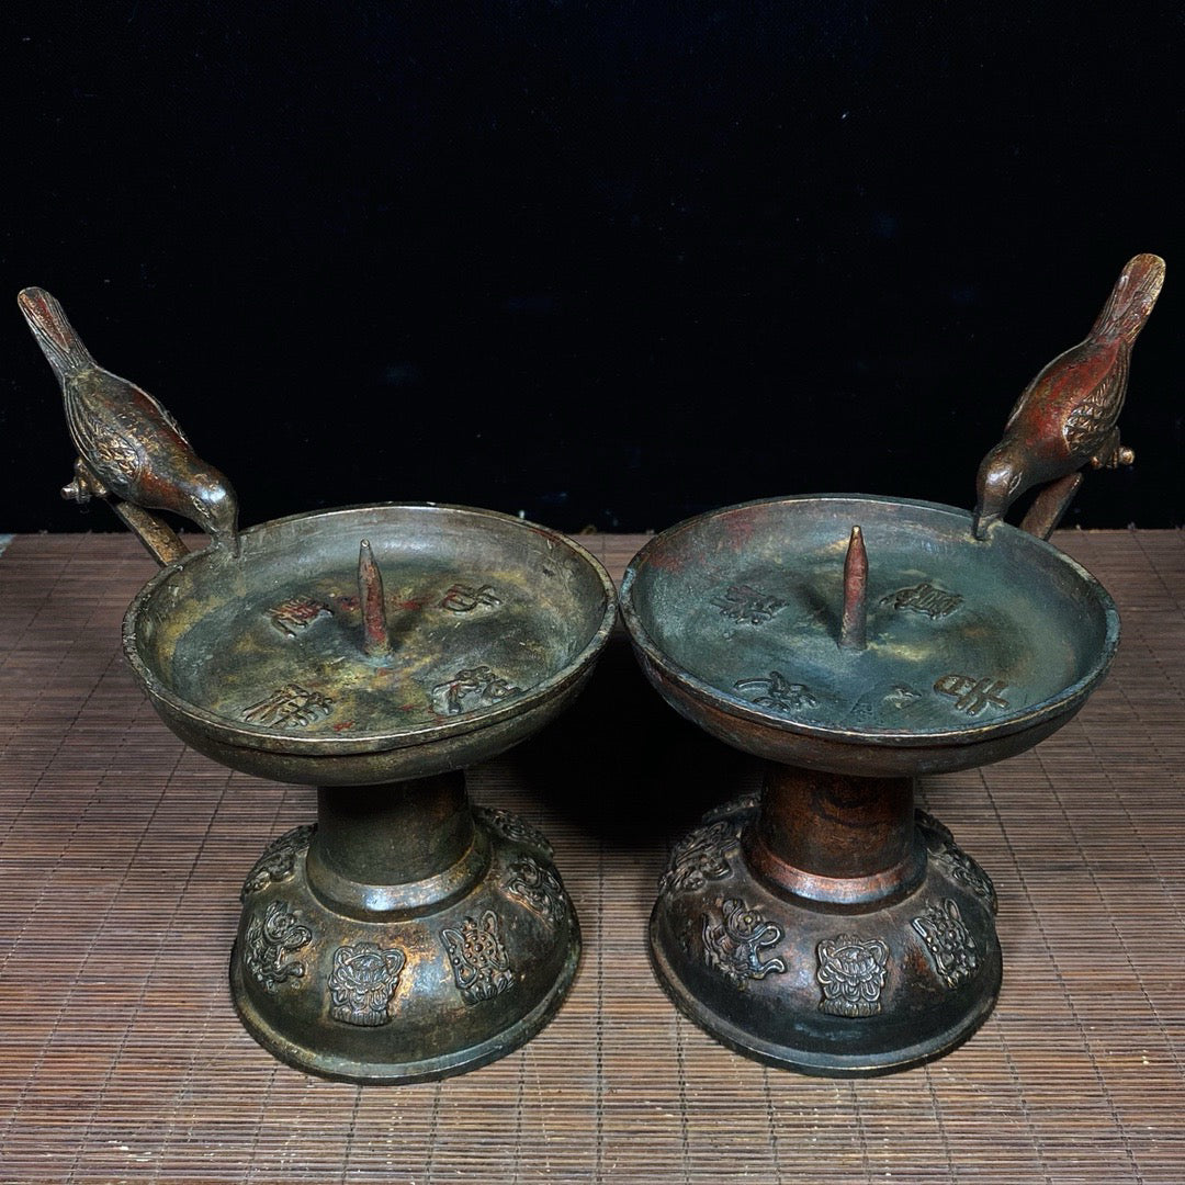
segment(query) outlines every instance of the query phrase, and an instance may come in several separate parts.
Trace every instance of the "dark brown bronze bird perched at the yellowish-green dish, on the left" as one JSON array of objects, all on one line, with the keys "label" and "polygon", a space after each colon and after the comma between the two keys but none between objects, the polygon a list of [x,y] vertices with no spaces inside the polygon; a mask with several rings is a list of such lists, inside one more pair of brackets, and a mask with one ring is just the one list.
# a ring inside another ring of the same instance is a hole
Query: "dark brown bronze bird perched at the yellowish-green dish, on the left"
[{"label": "dark brown bronze bird perched at the yellowish-green dish, on the left", "polygon": [[[63,495],[88,501],[114,494],[130,507],[173,511],[236,555],[238,504],[230,482],[193,451],[173,417],[147,391],[95,361],[49,293],[26,288],[17,301],[62,385],[70,437],[78,450],[75,478]],[[132,521],[128,514],[122,517]]]}]

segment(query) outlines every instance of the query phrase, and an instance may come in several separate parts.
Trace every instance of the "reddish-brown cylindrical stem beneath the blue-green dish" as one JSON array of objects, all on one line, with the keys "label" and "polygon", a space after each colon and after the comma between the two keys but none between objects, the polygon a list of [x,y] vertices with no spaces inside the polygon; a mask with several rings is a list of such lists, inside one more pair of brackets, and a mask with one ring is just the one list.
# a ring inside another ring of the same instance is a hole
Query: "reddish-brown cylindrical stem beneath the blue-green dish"
[{"label": "reddish-brown cylindrical stem beneath the blue-green dish", "polygon": [[851,777],[770,762],[749,866],[775,891],[835,907],[878,908],[925,873],[911,777]]}]

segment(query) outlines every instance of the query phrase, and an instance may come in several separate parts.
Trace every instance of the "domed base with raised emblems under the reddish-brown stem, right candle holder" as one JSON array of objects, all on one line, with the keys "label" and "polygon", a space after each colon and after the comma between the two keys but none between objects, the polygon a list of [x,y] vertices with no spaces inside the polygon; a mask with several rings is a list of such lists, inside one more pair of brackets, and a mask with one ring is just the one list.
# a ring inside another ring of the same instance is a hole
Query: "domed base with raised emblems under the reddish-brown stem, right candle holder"
[{"label": "domed base with raised emblems under the reddish-brown stem, right candle holder", "polygon": [[902,1070],[966,1040],[995,1004],[1001,960],[992,883],[949,831],[918,812],[920,883],[837,908],[748,866],[757,809],[710,812],[660,882],[651,955],[678,1008],[739,1053],[826,1077]]}]

